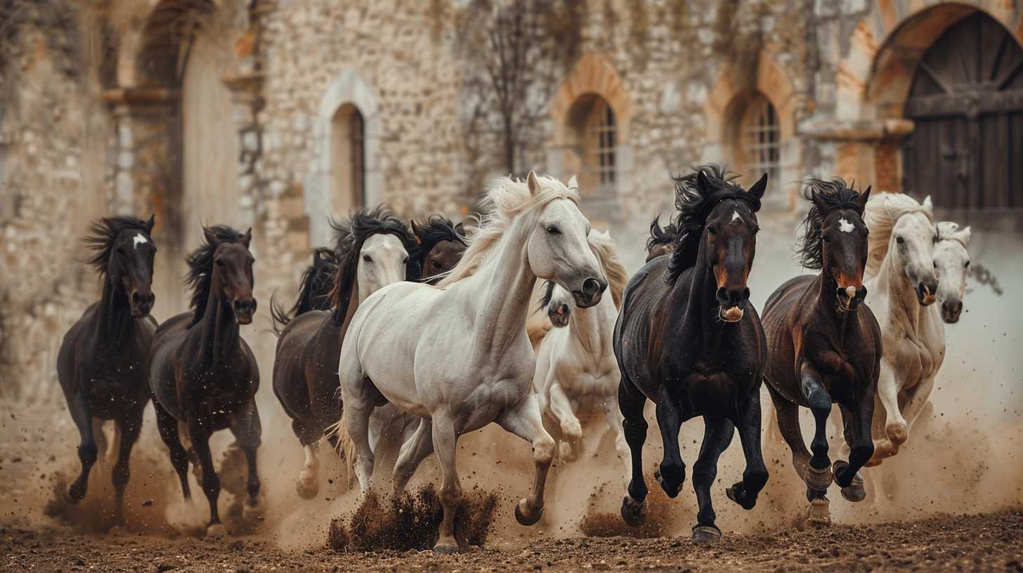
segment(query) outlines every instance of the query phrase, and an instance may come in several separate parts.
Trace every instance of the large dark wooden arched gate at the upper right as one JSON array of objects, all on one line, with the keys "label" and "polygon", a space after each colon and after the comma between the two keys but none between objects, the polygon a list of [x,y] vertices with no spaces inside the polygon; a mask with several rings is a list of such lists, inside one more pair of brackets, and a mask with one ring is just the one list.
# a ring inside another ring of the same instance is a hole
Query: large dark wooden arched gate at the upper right
[{"label": "large dark wooden arched gate at the upper right", "polygon": [[1023,48],[982,12],[928,49],[905,105],[903,188],[944,208],[1023,207]]}]

